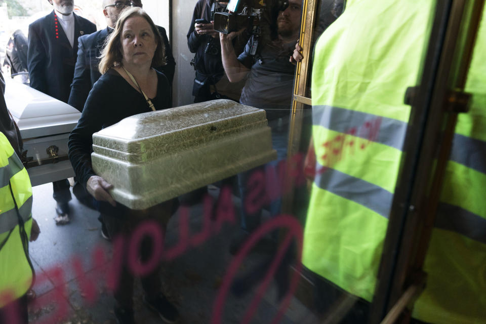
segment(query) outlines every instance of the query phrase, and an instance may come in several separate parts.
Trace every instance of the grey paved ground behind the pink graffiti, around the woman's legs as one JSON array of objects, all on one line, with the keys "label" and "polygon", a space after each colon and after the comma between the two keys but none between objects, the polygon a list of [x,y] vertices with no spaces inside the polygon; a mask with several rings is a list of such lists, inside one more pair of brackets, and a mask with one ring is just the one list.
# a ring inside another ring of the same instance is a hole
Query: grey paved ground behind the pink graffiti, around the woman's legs
[{"label": "grey paved ground behind the pink graffiti, around the woman's legs", "polygon": [[[217,197],[218,190],[210,193]],[[233,198],[235,213],[239,199]],[[81,205],[73,195],[70,201],[71,222],[57,226],[54,222],[55,201],[52,185],[33,188],[32,216],[41,228],[41,234],[31,242],[29,252],[37,273],[34,291],[37,298],[29,306],[31,323],[115,323],[114,299],[107,289],[106,280],[111,273],[107,260],[99,264],[93,259],[95,252],[112,254],[112,244],[101,237],[98,212]],[[203,206],[190,208],[189,228],[197,233],[203,225]],[[239,219],[224,224],[214,236],[198,247],[189,247],[171,262],[163,263],[161,278],[166,296],[181,314],[180,323],[212,323],[213,307],[223,278],[233,256],[228,253],[231,237],[239,231]],[[164,247],[178,243],[179,212],[169,222]],[[254,253],[239,267],[239,272],[250,271],[262,260],[271,256]],[[102,262],[101,262],[102,261]],[[91,284],[94,284],[90,286]],[[257,286],[256,286],[257,287]],[[252,292],[240,298],[231,292],[227,295],[221,323],[239,323],[255,296]],[[90,291],[89,288],[94,288]],[[270,323],[277,313],[275,282],[264,294],[256,308],[252,323]],[[160,319],[142,304],[140,282],[135,285],[134,305],[138,323],[160,323]],[[57,316],[56,313],[61,313]],[[281,323],[317,323],[314,315],[295,298],[280,321]]]}]

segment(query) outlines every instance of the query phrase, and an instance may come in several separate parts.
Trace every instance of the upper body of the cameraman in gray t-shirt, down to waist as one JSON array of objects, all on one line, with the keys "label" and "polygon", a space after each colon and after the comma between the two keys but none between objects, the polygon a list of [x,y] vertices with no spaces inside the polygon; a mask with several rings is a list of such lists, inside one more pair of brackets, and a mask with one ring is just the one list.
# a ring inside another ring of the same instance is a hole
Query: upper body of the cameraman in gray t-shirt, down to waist
[{"label": "upper body of the cameraman in gray t-shirt, down to waist", "polygon": [[[248,74],[240,102],[265,109],[268,120],[289,115],[295,66],[289,62],[300,33],[302,0],[290,0],[289,7],[277,16],[277,36],[264,43],[260,39],[256,55],[250,55],[253,36],[245,51],[236,57],[232,39],[237,32],[220,33],[223,67],[230,82]],[[277,110],[276,113],[272,110]]]}]

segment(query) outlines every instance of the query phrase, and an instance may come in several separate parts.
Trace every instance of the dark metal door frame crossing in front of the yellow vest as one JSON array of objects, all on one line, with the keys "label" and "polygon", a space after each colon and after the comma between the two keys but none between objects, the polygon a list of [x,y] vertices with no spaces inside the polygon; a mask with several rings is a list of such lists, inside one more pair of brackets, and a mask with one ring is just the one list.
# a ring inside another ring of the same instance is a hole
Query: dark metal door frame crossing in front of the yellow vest
[{"label": "dark metal door frame crossing in front of the yellow vest", "polygon": [[[414,113],[393,197],[370,323],[380,322],[407,294],[409,305],[403,303],[401,310],[412,308],[426,284],[423,263],[457,116],[467,112],[469,95],[464,93],[464,86],[483,6],[484,0],[437,1],[424,62],[428,68],[413,89],[416,95],[406,98]],[[414,294],[410,294],[414,288]],[[395,309],[394,317],[388,317],[387,322],[395,322],[399,313]],[[410,315],[410,310],[402,313],[402,322],[408,322]]]}]

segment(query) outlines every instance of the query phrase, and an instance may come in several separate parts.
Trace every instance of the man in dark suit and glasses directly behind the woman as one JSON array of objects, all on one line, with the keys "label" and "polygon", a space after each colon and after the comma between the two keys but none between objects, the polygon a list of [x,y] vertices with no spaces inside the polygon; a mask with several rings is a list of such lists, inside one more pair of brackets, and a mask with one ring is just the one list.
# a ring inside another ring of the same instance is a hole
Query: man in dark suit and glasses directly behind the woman
[{"label": "man in dark suit and glasses directly behind the woman", "polygon": [[[79,37],[76,68],[68,101],[77,110],[83,110],[91,88],[101,76],[101,73],[98,71],[98,57],[100,57],[106,37],[113,31],[121,11],[125,7],[131,6],[132,3],[136,7],[142,7],[140,2],[135,3],[135,1],[131,2],[130,0],[104,0],[103,15],[108,26],[90,35]],[[160,26],[157,26],[157,28],[166,47],[167,64],[156,67],[156,69],[166,75],[169,84],[172,86],[176,62],[172,56],[172,49],[169,45],[166,30]]]}]

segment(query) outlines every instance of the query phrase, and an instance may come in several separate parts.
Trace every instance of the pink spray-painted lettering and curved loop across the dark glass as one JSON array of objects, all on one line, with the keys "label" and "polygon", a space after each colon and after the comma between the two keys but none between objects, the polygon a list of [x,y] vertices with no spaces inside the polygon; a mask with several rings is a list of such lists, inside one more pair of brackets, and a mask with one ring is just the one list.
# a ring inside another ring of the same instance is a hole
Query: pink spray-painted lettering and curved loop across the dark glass
[{"label": "pink spray-painted lettering and curved loop across the dark glass", "polygon": [[[290,159],[290,164],[287,165],[286,161],[280,161],[276,168],[269,167],[266,172],[263,170],[255,171],[248,183],[250,194],[245,202],[245,208],[247,211],[255,212],[263,208],[269,201],[281,197],[290,190],[289,185],[284,185],[278,181],[283,179],[286,172],[290,172],[292,182],[297,186],[305,183],[305,176],[303,174],[303,155],[297,154]],[[119,276],[121,268],[127,266],[134,275],[146,275],[153,271],[157,265],[162,261],[171,261],[188,249],[198,247],[204,244],[211,236],[216,235],[222,229],[224,224],[235,225],[236,214],[235,207],[232,200],[232,193],[229,187],[223,187],[221,189],[218,204],[214,207],[214,199],[207,194],[204,197],[204,215],[203,225],[199,232],[191,233],[189,228],[189,209],[187,207],[181,207],[179,209],[179,227],[178,227],[178,242],[173,247],[164,247],[164,234],[165,229],[152,220],[147,220],[134,229],[130,237],[118,236],[113,239],[113,254],[111,258],[107,256],[104,249],[96,247],[91,253],[92,265],[96,269],[108,268],[106,272],[95,271],[92,277],[87,278],[83,269],[83,261],[79,256],[73,256],[66,262],[68,266],[76,274],[76,284],[78,285],[82,296],[85,298],[87,305],[93,305],[99,298],[97,284],[105,282],[109,291],[116,291],[119,282]],[[215,216],[213,216],[215,215]],[[273,277],[277,267],[280,265],[284,253],[289,249],[292,239],[297,242],[297,259],[295,265],[299,270],[301,267],[300,259],[302,254],[302,227],[295,217],[289,215],[280,215],[274,217],[272,220],[264,223],[259,227],[245,242],[244,246],[235,256],[231,262],[227,274],[223,280],[223,284],[218,291],[217,298],[213,307],[212,323],[220,323],[222,318],[222,312],[224,310],[225,296],[229,293],[231,282],[236,274],[241,262],[249,254],[252,247],[257,244],[258,240],[267,233],[274,231],[275,229],[286,229],[287,235],[281,242],[277,255],[273,259],[267,274],[265,275],[262,284],[257,290],[256,297],[250,304],[242,323],[248,323],[255,314],[258,304],[261,301],[262,295],[268,288],[269,282]],[[153,242],[153,249],[151,255],[145,262],[141,262],[138,258],[138,251],[141,244],[141,240],[144,237],[150,237]],[[127,257],[124,258],[124,255]],[[124,263],[127,263],[126,265]],[[65,319],[69,315],[69,305],[67,304],[67,290],[64,282],[65,270],[62,265],[56,265],[50,269],[45,270],[46,275],[36,277],[36,285],[42,285],[43,282],[49,279],[55,283],[55,289],[49,294],[43,295],[35,300],[33,308],[42,308],[43,306],[56,304],[55,312],[48,318],[43,318],[41,321],[36,321],[39,324],[47,324],[52,322],[58,322]],[[272,323],[277,323],[281,316],[287,309],[290,298],[293,296],[297,284],[298,275],[294,275],[291,280],[290,289],[285,295],[284,299],[280,303],[278,313],[273,319]],[[3,300],[12,300],[12,294],[9,292],[0,293],[0,298]],[[18,322],[16,318],[15,309],[12,308],[7,319],[9,323],[15,324]]]}]

